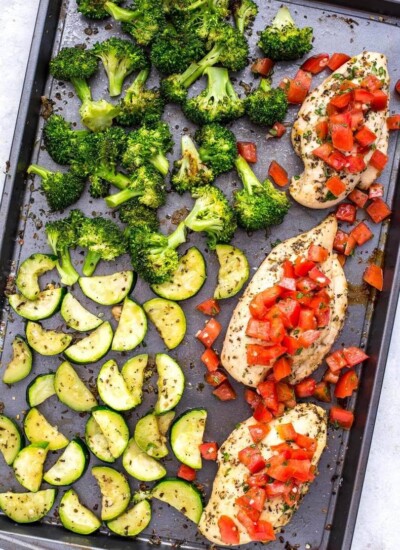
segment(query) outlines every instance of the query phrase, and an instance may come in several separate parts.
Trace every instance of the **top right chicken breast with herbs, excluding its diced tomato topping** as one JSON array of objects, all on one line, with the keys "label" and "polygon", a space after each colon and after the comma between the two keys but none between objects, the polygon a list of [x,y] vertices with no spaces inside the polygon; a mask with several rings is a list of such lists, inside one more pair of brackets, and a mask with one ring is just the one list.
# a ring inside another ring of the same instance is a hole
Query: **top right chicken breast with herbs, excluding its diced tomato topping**
[{"label": "top right chicken breast with herbs, excluding its diced tomato topping", "polygon": [[[333,72],[322,84],[315,88],[302,104],[297,119],[293,124],[292,143],[296,154],[304,162],[304,172],[294,176],[289,188],[292,197],[308,208],[330,208],[342,201],[356,186],[361,189],[368,187],[376,180],[379,172],[368,166],[373,150],[365,157],[367,168],[357,174],[335,172],[312,152],[321,145],[315,130],[316,123],[327,120],[326,106],[332,97],[337,94],[341,82],[349,80],[360,85],[363,78],[374,74],[382,81],[382,90],[389,96],[389,73],[386,57],[381,53],[363,52],[350,59],[337,71]],[[365,126],[376,136],[376,147],[382,153],[387,153],[389,132],[386,126],[387,109],[383,111],[369,111],[365,116]],[[327,188],[325,183],[331,175],[339,175],[346,185],[346,190],[333,200],[326,200]]]}]

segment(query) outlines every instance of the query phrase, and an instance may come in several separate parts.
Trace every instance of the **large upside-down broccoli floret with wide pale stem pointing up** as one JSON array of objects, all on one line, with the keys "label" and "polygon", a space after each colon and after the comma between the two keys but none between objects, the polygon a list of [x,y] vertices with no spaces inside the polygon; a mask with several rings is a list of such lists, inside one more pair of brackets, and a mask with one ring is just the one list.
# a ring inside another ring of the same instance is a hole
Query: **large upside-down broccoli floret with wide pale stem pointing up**
[{"label": "large upside-down broccoli floret with wide pale stem pointing up", "polygon": [[244,102],[238,97],[227,69],[209,67],[207,88],[198,96],[185,101],[185,115],[196,124],[230,122],[244,114]]}]

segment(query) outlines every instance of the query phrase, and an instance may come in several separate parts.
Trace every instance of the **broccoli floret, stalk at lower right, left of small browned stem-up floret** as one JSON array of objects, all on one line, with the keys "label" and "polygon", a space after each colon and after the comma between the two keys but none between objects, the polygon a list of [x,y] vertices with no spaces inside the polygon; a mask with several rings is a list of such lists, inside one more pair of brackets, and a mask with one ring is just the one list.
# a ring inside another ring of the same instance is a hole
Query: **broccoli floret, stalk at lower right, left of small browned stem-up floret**
[{"label": "broccoli floret, stalk at lower right, left of small browned stem-up floret", "polygon": [[150,163],[163,176],[166,176],[169,161],[165,154],[172,149],[172,146],[172,135],[166,122],[159,122],[154,126],[141,126],[128,135],[122,164],[133,171],[143,164]]}]

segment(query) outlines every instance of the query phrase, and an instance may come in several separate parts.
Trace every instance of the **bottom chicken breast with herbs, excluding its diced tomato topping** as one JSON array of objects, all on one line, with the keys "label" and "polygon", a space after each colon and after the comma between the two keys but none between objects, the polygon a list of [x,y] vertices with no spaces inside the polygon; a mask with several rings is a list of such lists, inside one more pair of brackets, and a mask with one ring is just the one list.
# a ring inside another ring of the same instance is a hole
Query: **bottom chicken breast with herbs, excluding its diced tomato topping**
[{"label": "bottom chicken breast with herbs, excluding its diced tomato topping", "polygon": [[[312,458],[312,463],[317,465],[326,446],[327,419],[325,411],[312,403],[300,403],[280,418],[276,418],[269,423],[271,431],[259,443],[264,459],[272,456],[271,445],[283,443],[276,431],[276,426],[288,422],[293,424],[297,433],[317,440],[317,449]],[[244,494],[243,486],[249,473],[247,467],[239,462],[238,453],[243,448],[254,444],[249,432],[249,426],[254,423],[256,421],[253,417],[242,422],[218,451],[218,472],[214,480],[210,500],[199,523],[200,532],[209,541],[217,545],[224,545],[218,528],[218,519],[222,515],[229,516],[235,521],[240,533],[240,544],[251,542],[246,529],[236,519],[238,508],[235,500]],[[307,493],[309,485],[309,483],[304,483],[300,487],[301,496]],[[281,527],[290,521],[299,506],[300,500],[294,506],[288,508],[280,498],[269,498],[265,502],[261,519],[269,521],[274,529],[279,531]]]}]

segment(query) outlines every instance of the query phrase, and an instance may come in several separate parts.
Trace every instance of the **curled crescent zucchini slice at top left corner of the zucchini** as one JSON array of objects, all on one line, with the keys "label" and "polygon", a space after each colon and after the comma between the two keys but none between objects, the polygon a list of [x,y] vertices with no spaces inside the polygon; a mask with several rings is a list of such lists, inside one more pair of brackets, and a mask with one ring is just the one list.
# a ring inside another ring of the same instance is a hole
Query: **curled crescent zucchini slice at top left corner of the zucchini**
[{"label": "curled crescent zucchini slice at top left corner of the zucchini", "polygon": [[56,267],[57,256],[51,254],[32,254],[19,266],[16,284],[28,300],[36,300],[40,294],[39,277]]}]

